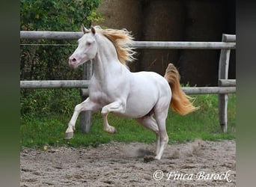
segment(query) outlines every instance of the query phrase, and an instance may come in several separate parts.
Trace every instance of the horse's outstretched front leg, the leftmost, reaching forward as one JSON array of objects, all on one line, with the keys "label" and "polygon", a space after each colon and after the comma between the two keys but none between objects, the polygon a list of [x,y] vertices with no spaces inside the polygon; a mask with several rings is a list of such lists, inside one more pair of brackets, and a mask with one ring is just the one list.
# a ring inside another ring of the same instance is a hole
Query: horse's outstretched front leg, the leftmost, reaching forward
[{"label": "horse's outstretched front leg, the leftmost, reaching forward", "polygon": [[70,122],[68,123],[67,130],[65,132],[65,139],[73,138],[73,132],[76,129],[76,120],[81,111],[97,111],[100,109],[100,105],[90,100],[90,97],[85,99],[84,102],[76,105],[73,116],[71,117]]}]

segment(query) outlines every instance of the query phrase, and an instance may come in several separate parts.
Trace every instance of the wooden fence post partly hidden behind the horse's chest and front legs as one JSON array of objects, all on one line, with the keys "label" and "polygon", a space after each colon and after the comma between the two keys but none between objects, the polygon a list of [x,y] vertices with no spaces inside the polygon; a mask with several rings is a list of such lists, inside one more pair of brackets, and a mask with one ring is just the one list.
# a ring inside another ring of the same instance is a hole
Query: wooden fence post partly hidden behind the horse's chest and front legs
[{"label": "wooden fence post partly hidden behind the horse's chest and front legs", "polygon": [[[82,79],[83,80],[90,80],[92,74],[93,74],[93,62],[92,61],[87,61],[84,64]],[[85,96],[83,94],[82,89],[80,90],[80,94],[81,94],[82,101],[87,99],[88,96]],[[90,129],[91,129],[91,111],[82,111],[80,113],[79,128],[83,132],[89,132],[90,131]]]}]

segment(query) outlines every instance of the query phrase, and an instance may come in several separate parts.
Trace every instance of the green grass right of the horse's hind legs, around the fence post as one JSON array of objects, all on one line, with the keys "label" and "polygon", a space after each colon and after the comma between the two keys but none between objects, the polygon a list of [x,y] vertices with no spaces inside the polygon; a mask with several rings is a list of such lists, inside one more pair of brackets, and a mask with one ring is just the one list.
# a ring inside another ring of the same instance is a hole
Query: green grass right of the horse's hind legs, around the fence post
[{"label": "green grass right of the horse's hind legs, around the fence post", "polygon": [[[228,133],[222,133],[219,126],[218,95],[203,94],[195,97],[195,106],[200,106],[186,116],[171,111],[166,126],[170,141],[190,141],[195,138],[204,140],[233,139],[236,127],[236,95],[229,94]],[[172,138],[171,138],[172,137]]]}]

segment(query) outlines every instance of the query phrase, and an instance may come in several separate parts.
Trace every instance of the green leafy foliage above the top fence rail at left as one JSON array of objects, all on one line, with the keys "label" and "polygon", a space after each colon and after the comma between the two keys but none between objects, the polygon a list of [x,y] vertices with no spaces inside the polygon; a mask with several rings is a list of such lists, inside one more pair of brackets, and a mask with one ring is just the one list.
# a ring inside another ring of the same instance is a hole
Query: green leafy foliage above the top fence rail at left
[{"label": "green leafy foliage above the top fence rail at left", "polygon": [[99,20],[96,13],[100,0],[21,0],[20,29],[44,31],[77,31],[82,24]]}]

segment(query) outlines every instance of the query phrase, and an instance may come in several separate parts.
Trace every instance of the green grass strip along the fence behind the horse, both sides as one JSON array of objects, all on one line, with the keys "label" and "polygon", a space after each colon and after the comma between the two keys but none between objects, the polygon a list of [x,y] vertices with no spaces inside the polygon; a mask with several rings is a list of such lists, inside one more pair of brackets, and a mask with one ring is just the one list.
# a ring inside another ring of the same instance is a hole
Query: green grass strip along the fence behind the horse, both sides
[{"label": "green grass strip along the fence behind the horse, both sides", "polygon": [[[219,141],[234,139],[236,132],[236,95],[229,95],[228,102],[228,132],[222,133],[218,119],[218,96],[197,95],[195,105],[201,108],[198,111],[180,116],[169,111],[166,128],[169,144],[192,141],[195,138]],[[135,120],[115,117],[109,114],[109,124],[115,126],[117,134],[103,131],[103,119],[100,112],[93,114],[91,132],[79,131],[79,120],[76,123],[76,132],[73,139],[64,140],[64,132],[71,115],[49,114],[47,116],[22,116],[20,133],[21,146],[43,147],[44,145],[61,146],[67,144],[72,147],[94,146],[110,141],[132,142],[139,141],[153,143],[156,136],[148,129],[144,129]]]}]

